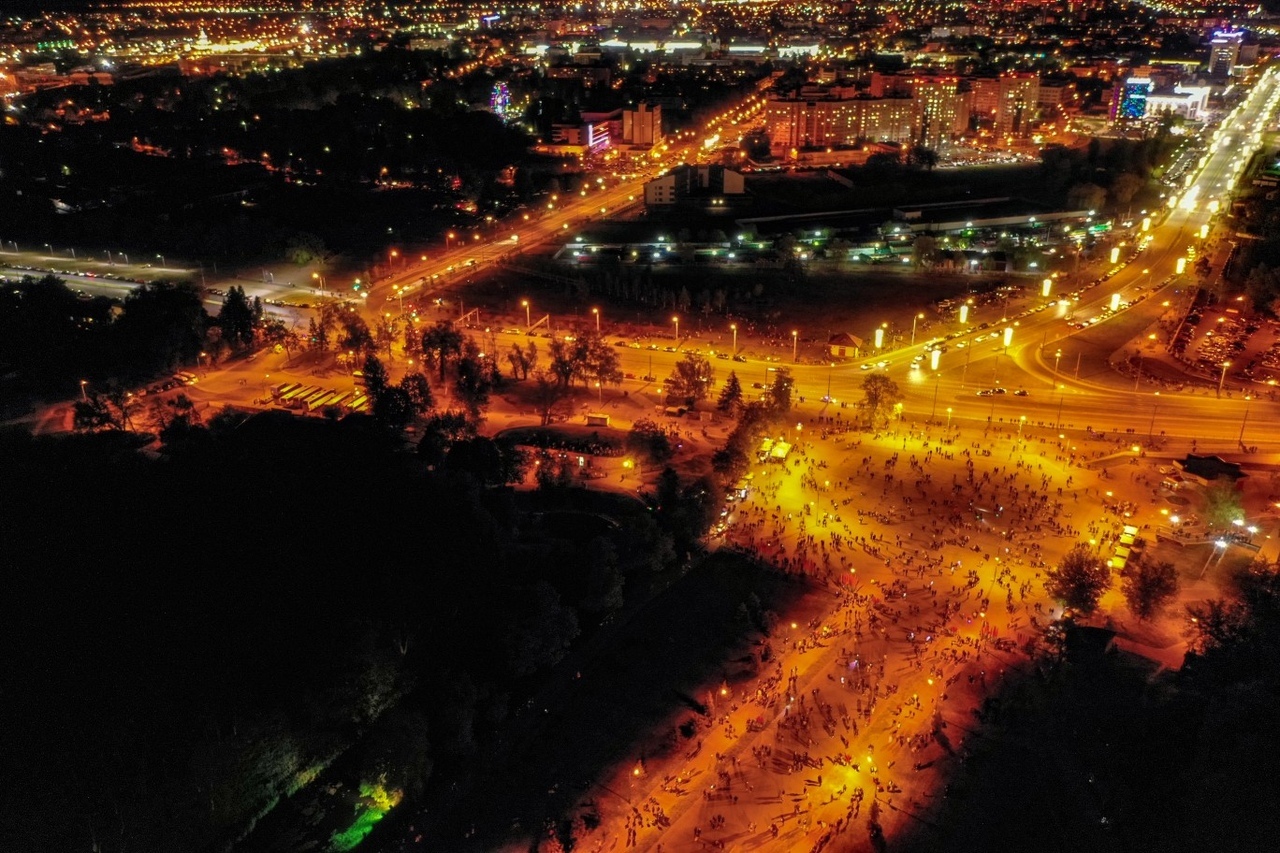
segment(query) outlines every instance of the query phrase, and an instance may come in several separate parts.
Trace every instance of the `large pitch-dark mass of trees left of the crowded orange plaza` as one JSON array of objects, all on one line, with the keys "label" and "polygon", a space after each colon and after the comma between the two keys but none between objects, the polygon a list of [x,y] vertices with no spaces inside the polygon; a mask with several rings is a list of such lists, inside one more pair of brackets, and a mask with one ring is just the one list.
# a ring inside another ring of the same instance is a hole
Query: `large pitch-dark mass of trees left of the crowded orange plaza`
[{"label": "large pitch-dark mass of trees left of the crowded orange plaza", "polygon": [[636,505],[609,510],[617,529],[544,528],[493,485],[518,455],[465,426],[434,470],[387,435],[219,415],[164,462],[114,432],[4,437],[14,849],[210,848],[337,754],[410,795],[457,779],[672,556],[666,519]]}]

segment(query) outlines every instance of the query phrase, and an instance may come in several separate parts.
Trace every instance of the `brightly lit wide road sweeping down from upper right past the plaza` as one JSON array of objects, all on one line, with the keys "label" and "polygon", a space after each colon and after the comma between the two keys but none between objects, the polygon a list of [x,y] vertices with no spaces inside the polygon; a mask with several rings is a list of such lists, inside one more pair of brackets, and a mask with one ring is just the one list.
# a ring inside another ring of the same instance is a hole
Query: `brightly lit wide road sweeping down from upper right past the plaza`
[{"label": "brightly lit wide road sweeping down from upper right past the plaza", "polygon": [[[957,333],[946,341],[947,351],[938,359],[937,371],[931,357],[923,353],[923,336],[916,346],[836,365],[790,364],[790,353],[780,361],[763,361],[753,356],[749,362],[713,359],[717,378],[736,370],[749,393],[759,393],[754,383],[767,384],[771,368],[786,366],[796,379],[796,393],[809,400],[829,396],[829,411],[841,411],[840,401],[854,403],[861,398],[861,383],[874,370],[884,370],[905,391],[904,418],[909,420],[947,418],[957,421],[1011,421],[1028,425],[1061,426],[1083,430],[1093,428],[1106,433],[1132,430],[1134,441],[1147,443],[1148,435],[1196,438],[1201,450],[1233,450],[1242,442],[1261,450],[1280,450],[1280,433],[1263,429],[1274,423],[1280,410],[1267,398],[1245,398],[1240,382],[1226,377],[1222,393],[1211,384],[1185,391],[1161,389],[1158,386],[1135,383],[1114,371],[1108,364],[1112,353],[1134,339],[1146,337],[1161,314],[1178,307],[1178,300],[1189,298],[1184,287],[1192,284],[1190,266],[1178,275],[1179,259],[1188,257],[1188,248],[1201,246],[1201,225],[1210,223],[1238,181],[1249,154],[1260,143],[1261,131],[1280,104],[1280,81],[1275,73],[1265,74],[1249,99],[1234,110],[1215,134],[1211,151],[1198,170],[1190,173],[1180,187],[1176,206],[1152,218],[1149,231],[1139,224],[1130,245],[1121,250],[1124,265],[1108,280],[1084,284],[1078,296],[1051,292],[1043,297],[1038,287],[1033,295],[1012,300],[1005,306],[986,306],[973,311],[969,325],[957,323]],[[1138,247],[1140,246],[1140,251]],[[1128,261],[1128,263],[1126,263]],[[1055,282],[1055,288],[1061,287]],[[1112,300],[1128,307],[1110,311]],[[1084,329],[1073,324],[1098,320]],[[979,325],[984,328],[978,328]],[[1005,329],[1012,329],[1005,346]],[[946,329],[937,329],[947,334]],[[524,342],[524,334],[497,333],[499,351],[512,342]],[[611,338],[613,339],[613,338]],[[648,342],[646,342],[648,343]],[[687,350],[708,357],[712,351],[732,348],[730,333],[717,338],[681,338],[673,333],[654,338],[657,348],[622,347],[618,350],[622,369],[635,377],[652,374],[660,380]],[[540,347],[545,353],[545,346]],[[913,361],[923,356],[916,366]],[[874,365],[883,366],[874,366]],[[870,368],[870,369],[867,369]],[[639,379],[627,380],[628,393],[649,393],[660,400],[660,386]],[[986,389],[1004,393],[979,396]],[[1267,391],[1247,388],[1249,396]],[[1024,393],[1023,393],[1024,392]],[[620,393],[612,389],[605,396]],[[1251,430],[1249,424],[1256,429]]]}]

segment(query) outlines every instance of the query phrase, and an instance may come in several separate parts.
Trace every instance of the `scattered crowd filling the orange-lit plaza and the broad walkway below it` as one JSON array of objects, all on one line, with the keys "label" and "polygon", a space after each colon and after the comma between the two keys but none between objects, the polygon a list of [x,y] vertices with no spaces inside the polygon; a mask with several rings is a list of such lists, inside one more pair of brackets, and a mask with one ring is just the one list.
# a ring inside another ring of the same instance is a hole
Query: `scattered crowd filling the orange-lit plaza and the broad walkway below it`
[{"label": "scattered crowd filling the orange-lit plaza and the broad walkway below it", "polygon": [[[804,435],[755,469],[724,544],[809,584],[812,616],[774,630],[773,657],[671,758],[685,766],[630,815],[626,847],[846,849],[918,815],[938,760],[1059,615],[1044,569],[1130,520],[1056,432],[815,419]],[[620,845],[608,822],[593,840]]]}]

